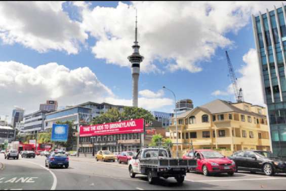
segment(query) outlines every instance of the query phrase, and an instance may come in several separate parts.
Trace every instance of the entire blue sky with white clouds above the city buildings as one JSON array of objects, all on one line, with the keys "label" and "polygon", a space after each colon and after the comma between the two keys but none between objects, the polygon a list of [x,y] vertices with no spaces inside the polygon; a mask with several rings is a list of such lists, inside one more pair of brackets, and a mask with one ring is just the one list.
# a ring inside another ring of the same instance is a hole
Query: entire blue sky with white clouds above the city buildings
[{"label": "entire blue sky with white clouds above the city buildings", "polygon": [[244,101],[264,105],[251,15],[281,2],[1,2],[0,116],[46,100],[132,105],[138,12],[139,106],[171,112],[173,90],[199,106],[235,102],[228,51]]}]

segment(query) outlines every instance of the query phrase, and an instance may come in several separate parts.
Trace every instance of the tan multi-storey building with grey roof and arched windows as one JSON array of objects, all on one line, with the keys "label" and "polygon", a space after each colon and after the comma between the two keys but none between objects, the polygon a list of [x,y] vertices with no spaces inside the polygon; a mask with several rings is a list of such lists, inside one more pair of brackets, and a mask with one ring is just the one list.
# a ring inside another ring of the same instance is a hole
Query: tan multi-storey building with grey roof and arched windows
[{"label": "tan multi-storey building with grey roof and arched windows", "polygon": [[[214,100],[178,115],[180,153],[190,149],[270,150],[266,109],[251,103]],[[176,143],[175,118],[171,119],[170,138]],[[176,145],[173,145],[176,149]]]}]

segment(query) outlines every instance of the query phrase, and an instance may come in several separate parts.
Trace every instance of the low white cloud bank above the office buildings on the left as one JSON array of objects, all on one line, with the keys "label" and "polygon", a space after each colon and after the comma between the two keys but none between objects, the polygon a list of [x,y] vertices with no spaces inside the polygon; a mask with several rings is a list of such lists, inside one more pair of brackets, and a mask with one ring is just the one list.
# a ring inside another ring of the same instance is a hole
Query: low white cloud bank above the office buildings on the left
[{"label": "low white cloud bank above the office buildings on the left", "polygon": [[0,62],[0,68],[0,113],[9,116],[13,105],[24,107],[28,113],[49,99],[65,106],[114,96],[88,67],[70,70],[48,63],[32,68],[10,61]]}]

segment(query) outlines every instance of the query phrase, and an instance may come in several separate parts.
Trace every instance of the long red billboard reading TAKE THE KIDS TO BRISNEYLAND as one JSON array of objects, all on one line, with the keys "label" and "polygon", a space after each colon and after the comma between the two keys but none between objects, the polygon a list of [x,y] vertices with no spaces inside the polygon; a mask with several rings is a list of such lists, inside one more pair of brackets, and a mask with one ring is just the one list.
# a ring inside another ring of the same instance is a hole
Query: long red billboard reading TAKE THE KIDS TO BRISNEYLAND
[{"label": "long red billboard reading TAKE THE KIDS TO BRISNEYLAND", "polygon": [[80,126],[79,128],[80,137],[143,132],[144,119],[97,124],[91,126]]}]

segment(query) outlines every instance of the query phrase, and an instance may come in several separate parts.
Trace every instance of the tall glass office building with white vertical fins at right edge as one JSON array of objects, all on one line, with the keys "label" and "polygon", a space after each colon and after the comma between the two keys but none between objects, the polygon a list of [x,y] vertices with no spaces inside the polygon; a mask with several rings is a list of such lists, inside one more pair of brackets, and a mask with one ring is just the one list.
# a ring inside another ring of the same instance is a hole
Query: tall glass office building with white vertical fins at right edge
[{"label": "tall glass office building with white vertical fins at right edge", "polygon": [[252,16],[274,154],[286,157],[285,7]]}]

